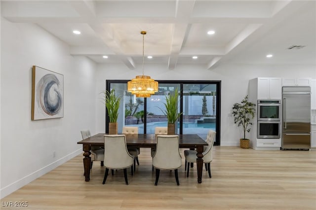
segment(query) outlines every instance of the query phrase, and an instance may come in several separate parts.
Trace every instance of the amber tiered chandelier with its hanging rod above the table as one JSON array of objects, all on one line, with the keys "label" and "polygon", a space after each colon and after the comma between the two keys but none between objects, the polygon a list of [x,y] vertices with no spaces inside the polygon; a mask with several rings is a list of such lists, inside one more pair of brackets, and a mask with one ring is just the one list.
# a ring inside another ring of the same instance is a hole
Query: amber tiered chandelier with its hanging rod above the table
[{"label": "amber tiered chandelier with its hanging rod above the table", "polygon": [[136,95],[136,97],[150,97],[158,91],[158,82],[150,76],[144,75],[144,37],[147,34],[145,31],[140,32],[143,35],[143,75],[138,75],[136,78],[127,82],[127,91]]}]

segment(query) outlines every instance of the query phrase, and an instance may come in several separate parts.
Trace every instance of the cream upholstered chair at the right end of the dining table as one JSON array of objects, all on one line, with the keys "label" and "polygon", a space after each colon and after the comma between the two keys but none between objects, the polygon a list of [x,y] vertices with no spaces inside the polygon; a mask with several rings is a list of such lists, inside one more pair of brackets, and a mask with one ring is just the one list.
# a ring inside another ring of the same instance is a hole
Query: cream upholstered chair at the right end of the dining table
[{"label": "cream upholstered chair at the right end of the dining table", "polygon": [[[209,130],[206,137],[207,146],[204,146],[203,151],[203,162],[205,163],[205,169],[208,171],[208,176],[211,178],[211,162],[213,160],[213,144],[215,140],[216,132]],[[190,163],[197,162],[197,151],[196,150],[185,150],[184,151],[185,170],[187,171],[187,177],[189,177]]]}]

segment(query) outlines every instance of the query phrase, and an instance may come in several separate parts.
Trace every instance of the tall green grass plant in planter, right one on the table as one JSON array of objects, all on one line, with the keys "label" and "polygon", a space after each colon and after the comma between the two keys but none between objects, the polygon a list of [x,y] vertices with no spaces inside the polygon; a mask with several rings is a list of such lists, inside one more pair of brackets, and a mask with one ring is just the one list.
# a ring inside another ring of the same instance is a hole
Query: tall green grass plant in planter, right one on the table
[{"label": "tall green grass plant in planter, right one on the table", "polygon": [[164,113],[164,115],[167,116],[168,120],[168,135],[174,135],[175,134],[175,123],[180,117],[182,113],[178,113],[178,88],[175,89],[173,94],[169,94],[166,96],[166,102],[163,103],[165,106],[165,110],[161,111]]}]

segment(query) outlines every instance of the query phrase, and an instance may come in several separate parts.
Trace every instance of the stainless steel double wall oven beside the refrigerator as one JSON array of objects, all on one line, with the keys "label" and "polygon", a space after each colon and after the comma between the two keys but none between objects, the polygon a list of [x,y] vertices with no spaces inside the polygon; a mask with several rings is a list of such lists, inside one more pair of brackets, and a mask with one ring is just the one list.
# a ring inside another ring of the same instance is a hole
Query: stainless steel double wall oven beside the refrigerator
[{"label": "stainless steel double wall oven beside the refrigerator", "polygon": [[281,101],[258,100],[258,139],[281,137]]}]

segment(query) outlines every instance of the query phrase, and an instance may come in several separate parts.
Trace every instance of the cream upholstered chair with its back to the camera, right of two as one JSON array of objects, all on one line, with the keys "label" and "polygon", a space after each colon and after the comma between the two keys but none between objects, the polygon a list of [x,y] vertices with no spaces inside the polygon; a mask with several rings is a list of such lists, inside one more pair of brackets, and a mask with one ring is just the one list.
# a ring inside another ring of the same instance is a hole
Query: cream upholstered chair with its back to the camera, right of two
[{"label": "cream upholstered chair with its back to the camera, right of two", "polygon": [[160,170],[174,170],[177,185],[179,185],[178,169],[181,167],[178,135],[157,135],[156,152],[153,156],[153,166],[156,168],[158,184]]}]

